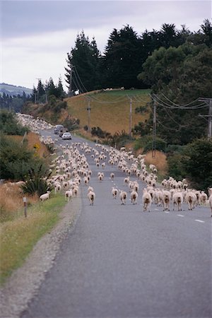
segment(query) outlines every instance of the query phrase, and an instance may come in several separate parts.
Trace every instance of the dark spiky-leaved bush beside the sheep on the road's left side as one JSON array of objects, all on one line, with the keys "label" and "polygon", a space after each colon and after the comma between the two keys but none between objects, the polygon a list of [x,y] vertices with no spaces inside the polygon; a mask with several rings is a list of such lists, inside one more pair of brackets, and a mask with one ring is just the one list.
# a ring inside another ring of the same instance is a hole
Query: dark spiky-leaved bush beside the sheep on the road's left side
[{"label": "dark spiky-leaved bush beside the sheep on the road's left side", "polygon": [[30,168],[28,171],[28,178],[25,184],[21,185],[21,189],[25,194],[37,194],[41,196],[47,191],[52,190],[52,186],[47,183],[47,174],[46,167],[44,165],[37,165],[35,168]]}]

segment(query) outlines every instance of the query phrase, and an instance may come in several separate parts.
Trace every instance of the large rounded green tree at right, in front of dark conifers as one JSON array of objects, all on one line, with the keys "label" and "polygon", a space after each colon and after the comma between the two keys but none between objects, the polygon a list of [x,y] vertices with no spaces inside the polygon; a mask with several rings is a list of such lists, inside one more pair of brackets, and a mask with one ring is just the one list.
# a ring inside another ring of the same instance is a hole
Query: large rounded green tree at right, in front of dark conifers
[{"label": "large rounded green tree at right, in front of dark conifers", "polygon": [[[168,144],[184,145],[206,136],[206,125],[198,115],[206,114],[207,107],[199,107],[197,99],[212,95],[211,54],[206,45],[187,43],[168,49],[160,47],[143,64],[139,78],[150,84],[159,98],[157,133]],[[181,106],[189,103],[193,109]]]}]

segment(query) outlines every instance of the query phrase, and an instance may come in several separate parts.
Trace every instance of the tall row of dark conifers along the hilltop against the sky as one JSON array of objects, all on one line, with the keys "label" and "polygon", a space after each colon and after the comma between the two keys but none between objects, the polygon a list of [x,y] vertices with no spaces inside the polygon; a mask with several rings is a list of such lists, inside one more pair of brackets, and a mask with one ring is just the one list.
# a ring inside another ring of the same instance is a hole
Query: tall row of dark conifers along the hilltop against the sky
[{"label": "tall row of dark conifers along the hilltop against the sky", "polygon": [[[69,92],[100,88],[149,88],[151,83],[139,77],[143,64],[160,47],[180,47],[185,43],[192,46],[212,45],[212,25],[204,20],[198,32],[191,32],[185,25],[177,30],[175,24],[164,23],[159,31],[145,30],[138,35],[125,25],[112,30],[104,52],[100,52],[95,37],[90,41],[81,32],[76,37],[75,47],[67,54],[66,83]],[[162,53],[162,52],[161,52]],[[175,56],[171,58],[175,59]]]}]

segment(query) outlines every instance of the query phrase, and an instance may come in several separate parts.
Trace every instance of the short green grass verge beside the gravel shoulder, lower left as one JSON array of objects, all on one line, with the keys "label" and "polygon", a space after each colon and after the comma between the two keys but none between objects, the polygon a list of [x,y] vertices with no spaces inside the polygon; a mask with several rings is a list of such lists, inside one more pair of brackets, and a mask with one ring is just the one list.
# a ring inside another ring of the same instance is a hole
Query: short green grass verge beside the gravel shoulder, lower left
[{"label": "short green grass verge beside the gravel shoulder, lower left", "polygon": [[22,209],[16,213],[16,218],[1,223],[1,285],[23,264],[37,241],[54,228],[65,204],[64,196],[57,194],[47,201],[30,206],[27,218],[23,216]]}]

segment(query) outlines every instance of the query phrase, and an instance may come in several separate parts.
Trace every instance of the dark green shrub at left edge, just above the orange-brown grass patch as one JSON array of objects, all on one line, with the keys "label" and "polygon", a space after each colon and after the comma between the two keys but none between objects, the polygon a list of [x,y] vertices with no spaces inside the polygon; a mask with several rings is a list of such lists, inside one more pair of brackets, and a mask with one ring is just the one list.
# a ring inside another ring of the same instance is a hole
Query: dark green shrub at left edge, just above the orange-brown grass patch
[{"label": "dark green shrub at left edge, just above the orange-brown grass patch", "polygon": [[7,135],[23,136],[29,129],[18,124],[13,112],[0,110],[0,131]]}]

